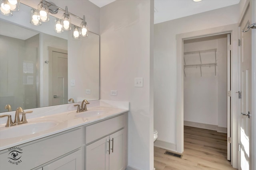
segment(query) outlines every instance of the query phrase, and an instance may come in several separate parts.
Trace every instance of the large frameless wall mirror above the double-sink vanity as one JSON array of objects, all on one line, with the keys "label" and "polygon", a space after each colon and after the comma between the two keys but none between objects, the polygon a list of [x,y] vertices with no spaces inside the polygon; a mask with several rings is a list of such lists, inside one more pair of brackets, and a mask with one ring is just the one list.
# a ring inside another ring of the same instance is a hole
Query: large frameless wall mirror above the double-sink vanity
[{"label": "large frameless wall mirror above the double-sink vanity", "polygon": [[31,7],[0,15],[0,112],[99,99],[100,36],[56,33],[53,16],[30,24]]}]

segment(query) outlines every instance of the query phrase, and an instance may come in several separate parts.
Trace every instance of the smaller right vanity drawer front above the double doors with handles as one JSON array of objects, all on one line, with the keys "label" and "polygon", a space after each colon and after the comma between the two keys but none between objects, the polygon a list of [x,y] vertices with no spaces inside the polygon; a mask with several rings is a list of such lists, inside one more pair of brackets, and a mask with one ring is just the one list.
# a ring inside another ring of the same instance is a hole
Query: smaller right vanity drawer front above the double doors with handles
[{"label": "smaller right vanity drawer front above the double doors with handles", "polygon": [[85,144],[88,144],[100,137],[104,137],[126,125],[125,115],[120,115],[93,125],[85,127]]}]

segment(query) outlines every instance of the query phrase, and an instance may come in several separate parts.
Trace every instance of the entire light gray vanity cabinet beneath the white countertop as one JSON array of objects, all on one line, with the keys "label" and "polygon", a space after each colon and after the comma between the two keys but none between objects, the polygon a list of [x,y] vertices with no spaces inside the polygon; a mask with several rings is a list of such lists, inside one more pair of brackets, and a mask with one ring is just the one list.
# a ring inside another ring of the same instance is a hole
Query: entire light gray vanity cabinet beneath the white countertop
[{"label": "entire light gray vanity cabinet beneath the white countertop", "polygon": [[125,170],[127,116],[123,113],[1,150],[0,170]]}]

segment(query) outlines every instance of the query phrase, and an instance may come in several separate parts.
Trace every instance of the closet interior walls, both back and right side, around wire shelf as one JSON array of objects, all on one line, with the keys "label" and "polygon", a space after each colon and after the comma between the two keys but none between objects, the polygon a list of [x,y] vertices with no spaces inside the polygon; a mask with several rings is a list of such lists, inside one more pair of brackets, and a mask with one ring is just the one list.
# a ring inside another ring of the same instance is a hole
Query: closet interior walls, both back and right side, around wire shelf
[{"label": "closet interior walls, both back and right side, around wire shelf", "polygon": [[[223,38],[224,37],[224,38]],[[196,42],[195,42],[196,41]],[[184,121],[227,127],[227,35],[184,43],[184,52],[217,49],[218,66],[185,68]],[[215,63],[215,52],[201,53],[202,64]],[[199,54],[184,55],[186,64],[200,64]]]}]

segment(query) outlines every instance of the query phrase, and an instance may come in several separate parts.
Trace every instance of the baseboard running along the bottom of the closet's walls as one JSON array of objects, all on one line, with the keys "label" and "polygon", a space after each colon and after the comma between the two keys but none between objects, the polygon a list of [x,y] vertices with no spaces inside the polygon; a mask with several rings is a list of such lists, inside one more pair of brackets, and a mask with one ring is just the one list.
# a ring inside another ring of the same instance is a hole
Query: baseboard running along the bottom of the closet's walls
[{"label": "baseboard running along the bottom of the closet's walls", "polygon": [[197,127],[201,129],[208,129],[213,130],[221,133],[227,133],[226,127],[220,127],[218,125],[210,125],[206,123],[198,123],[198,122],[192,122],[192,121],[184,121],[184,126],[190,126],[190,127]]}]

